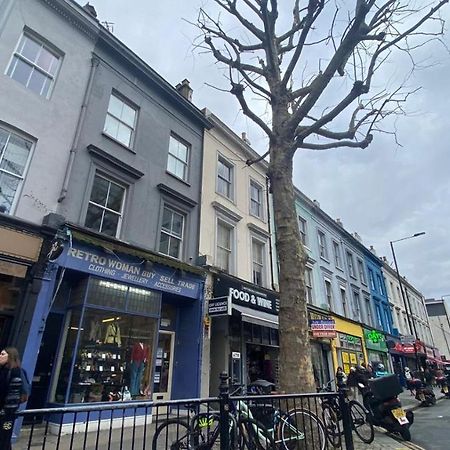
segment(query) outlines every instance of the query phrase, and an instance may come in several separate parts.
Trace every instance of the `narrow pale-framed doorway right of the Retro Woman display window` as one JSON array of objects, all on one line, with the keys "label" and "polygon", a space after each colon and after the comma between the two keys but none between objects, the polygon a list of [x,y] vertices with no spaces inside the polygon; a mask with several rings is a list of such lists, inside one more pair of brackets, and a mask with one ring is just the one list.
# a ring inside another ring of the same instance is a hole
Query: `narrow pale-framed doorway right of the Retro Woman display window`
[{"label": "narrow pale-framed doorway right of the Retro Woman display window", "polygon": [[[175,333],[160,331],[153,375],[153,401],[170,400]],[[160,411],[161,412],[161,411]]]}]

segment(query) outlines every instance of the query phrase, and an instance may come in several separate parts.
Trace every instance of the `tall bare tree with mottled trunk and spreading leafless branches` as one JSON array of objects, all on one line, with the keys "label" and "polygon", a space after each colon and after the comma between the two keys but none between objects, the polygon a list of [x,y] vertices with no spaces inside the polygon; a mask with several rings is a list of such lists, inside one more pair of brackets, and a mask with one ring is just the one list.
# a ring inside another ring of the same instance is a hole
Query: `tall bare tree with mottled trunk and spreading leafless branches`
[{"label": "tall bare tree with mottled trunk and spreading leafless branches", "polygon": [[[448,0],[213,0],[201,9],[200,48],[226,70],[229,92],[269,138],[280,267],[280,385],[315,388],[301,244],[294,208],[293,157],[298,149],[366,148],[387,116],[403,112],[411,91],[376,87],[385,63],[440,39],[438,16]],[[407,75],[407,74],[405,74]],[[269,105],[258,110],[256,99]],[[248,161],[252,164],[254,161]]]}]

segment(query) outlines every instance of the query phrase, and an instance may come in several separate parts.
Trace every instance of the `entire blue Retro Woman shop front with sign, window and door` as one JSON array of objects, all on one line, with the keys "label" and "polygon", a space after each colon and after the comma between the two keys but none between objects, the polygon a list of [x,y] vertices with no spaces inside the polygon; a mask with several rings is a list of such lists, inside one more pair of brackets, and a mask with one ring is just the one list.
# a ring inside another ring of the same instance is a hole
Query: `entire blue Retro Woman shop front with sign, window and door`
[{"label": "entire blue Retro Woman shop front with sign, window and door", "polygon": [[199,395],[199,275],[77,240],[56,264],[34,407]]}]

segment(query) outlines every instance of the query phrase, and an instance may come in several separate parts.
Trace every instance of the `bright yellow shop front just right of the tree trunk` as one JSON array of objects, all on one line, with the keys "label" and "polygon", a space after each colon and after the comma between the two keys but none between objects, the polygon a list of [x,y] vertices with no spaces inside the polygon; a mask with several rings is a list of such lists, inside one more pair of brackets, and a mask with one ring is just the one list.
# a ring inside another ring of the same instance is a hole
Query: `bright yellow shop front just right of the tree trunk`
[{"label": "bright yellow shop front just right of the tree trunk", "polygon": [[334,372],[342,367],[346,374],[350,368],[367,362],[363,346],[363,329],[354,322],[335,317],[337,337],[332,340]]}]

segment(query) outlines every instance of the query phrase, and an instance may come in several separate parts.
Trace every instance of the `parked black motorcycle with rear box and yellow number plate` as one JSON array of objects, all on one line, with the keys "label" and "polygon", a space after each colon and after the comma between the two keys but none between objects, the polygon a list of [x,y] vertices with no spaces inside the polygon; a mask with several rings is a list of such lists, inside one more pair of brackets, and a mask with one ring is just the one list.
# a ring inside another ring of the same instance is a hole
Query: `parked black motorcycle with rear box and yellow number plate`
[{"label": "parked black motorcycle with rear box and yellow number plate", "polygon": [[373,424],[390,433],[399,434],[405,441],[411,440],[409,428],[414,413],[405,411],[398,398],[403,388],[396,375],[369,380],[368,385],[359,384],[363,404],[369,411]]}]

